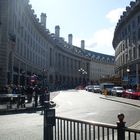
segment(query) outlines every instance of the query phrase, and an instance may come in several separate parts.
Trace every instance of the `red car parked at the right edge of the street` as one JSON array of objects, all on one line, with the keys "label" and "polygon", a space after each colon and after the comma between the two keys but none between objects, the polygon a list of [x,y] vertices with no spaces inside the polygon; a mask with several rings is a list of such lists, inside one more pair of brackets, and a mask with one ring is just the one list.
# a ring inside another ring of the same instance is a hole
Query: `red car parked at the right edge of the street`
[{"label": "red car parked at the right edge of the street", "polygon": [[133,89],[126,89],[122,96],[130,99],[140,99],[140,92]]}]

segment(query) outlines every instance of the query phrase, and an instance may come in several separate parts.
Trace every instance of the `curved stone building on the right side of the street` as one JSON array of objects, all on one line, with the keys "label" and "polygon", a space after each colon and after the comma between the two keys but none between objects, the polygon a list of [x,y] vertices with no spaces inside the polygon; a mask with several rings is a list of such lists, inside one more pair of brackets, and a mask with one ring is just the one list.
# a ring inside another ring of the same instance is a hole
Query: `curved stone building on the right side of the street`
[{"label": "curved stone building on the right side of the street", "polygon": [[140,82],[140,0],[131,1],[117,23],[113,47],[115,71],[124,84]]}]

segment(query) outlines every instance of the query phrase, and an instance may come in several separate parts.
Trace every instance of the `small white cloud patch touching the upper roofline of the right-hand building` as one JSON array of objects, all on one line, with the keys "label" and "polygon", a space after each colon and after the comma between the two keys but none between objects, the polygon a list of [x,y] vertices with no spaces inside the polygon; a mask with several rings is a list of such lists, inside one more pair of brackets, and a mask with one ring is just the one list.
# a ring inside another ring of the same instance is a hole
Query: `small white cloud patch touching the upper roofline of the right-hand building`
[{"label": "small white cloud patch touching the upper roofline of the right-hand building", "polygon": [[117,23],[118,19],[120,18],[120,15],[122,15],[122,12],[124,10],[124,8],[113,9],[106,15],[106,18],[109,19],[111,23]]}]

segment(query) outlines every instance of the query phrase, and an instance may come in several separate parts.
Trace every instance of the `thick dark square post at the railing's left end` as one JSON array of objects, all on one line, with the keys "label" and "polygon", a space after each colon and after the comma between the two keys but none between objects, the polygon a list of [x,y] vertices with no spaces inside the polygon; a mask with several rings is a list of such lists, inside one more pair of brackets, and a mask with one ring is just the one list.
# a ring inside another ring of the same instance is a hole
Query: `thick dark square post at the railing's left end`
[{"label": "thick dark square post at the railing's left end", "polygon": [[44,140],[53,140],[53,126],[55,125],[55,109],[51,102],[44,102]]}]

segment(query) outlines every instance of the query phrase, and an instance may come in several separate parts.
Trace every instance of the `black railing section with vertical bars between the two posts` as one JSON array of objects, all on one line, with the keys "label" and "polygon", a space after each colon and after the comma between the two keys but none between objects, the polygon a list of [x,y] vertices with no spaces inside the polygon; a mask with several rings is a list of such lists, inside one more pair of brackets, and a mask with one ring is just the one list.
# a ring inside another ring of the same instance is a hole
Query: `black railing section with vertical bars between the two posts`
[{"label": "black railing section with vertical bars between the two posts", "polygon": [[54,140],[115,140],[115,125],[56,117]]}]

